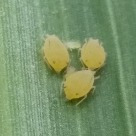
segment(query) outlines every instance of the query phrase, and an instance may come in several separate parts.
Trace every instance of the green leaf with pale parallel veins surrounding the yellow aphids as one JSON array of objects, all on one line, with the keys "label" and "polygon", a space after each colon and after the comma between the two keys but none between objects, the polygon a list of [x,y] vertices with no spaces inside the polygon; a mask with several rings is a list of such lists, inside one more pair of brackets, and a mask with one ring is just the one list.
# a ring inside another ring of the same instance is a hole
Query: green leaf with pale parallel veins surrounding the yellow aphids
[{"label": "green leaf with pale parallel veins surrounding the yellow aphids", "polygon": [[[46,34],[104,43],[101,78],[78,107],[44,63]],[[0,136],[136,136],[135,56],[135,0],[0,0]]]}]

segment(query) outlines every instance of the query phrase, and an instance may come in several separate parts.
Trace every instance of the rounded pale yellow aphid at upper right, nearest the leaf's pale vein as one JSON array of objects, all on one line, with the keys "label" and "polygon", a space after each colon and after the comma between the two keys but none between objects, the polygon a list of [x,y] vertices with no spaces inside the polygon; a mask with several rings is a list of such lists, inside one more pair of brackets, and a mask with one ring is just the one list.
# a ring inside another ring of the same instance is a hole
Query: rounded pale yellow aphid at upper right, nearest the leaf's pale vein
[{"label": "rounded pale yellow aphid at upper right, nearest the leaf's pale vein", "polygon": [[81,62],[89,69],[99,69],[104,65],[106,53],[98,40],[89,39],[81,48]]}]

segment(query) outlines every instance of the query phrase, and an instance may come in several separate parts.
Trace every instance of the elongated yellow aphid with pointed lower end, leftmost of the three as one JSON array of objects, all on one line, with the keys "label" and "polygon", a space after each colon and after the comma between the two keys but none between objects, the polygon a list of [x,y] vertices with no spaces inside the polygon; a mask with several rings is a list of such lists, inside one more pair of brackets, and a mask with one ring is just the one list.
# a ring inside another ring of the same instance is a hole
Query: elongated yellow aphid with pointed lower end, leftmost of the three
[{"label": "elongated yellow aphid with pointed lower end, leftmost of the three", "polygon": [[44,59],[57,73],[61,72],[69,64],[69,53],[64,44],[55,35],[48,35],[45,39]]}]

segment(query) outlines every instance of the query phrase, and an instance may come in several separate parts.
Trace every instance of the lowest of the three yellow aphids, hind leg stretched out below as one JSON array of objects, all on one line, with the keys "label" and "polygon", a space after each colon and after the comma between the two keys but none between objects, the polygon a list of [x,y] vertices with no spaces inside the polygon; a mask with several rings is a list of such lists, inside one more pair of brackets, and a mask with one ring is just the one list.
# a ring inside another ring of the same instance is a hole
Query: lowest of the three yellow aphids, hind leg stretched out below
[{"label": "lowest of the three yellow aphids, hind leg stretched out below", "polygon": [[[87,94],[94,88],[94,74],[91,70],[81,70],[66,75],[64,82],[64,92],[68,100],[83,97],[81,103]],[[78,104],[79,104],[78,103]]]}]

